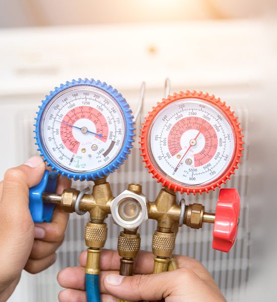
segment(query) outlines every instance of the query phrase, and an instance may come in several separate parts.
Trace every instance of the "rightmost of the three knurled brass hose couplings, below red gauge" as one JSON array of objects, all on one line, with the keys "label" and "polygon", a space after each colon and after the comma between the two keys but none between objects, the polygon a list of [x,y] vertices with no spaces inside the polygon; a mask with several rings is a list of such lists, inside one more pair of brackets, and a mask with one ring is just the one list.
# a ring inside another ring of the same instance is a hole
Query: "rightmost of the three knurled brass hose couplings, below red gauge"
[{"label": "rightmost of the three knurled brass hose couplings, below red gauge", "polygon": [[152,239],[152,251],[155,256],[171,257],[175,247],[175,233],[155,231]]}]

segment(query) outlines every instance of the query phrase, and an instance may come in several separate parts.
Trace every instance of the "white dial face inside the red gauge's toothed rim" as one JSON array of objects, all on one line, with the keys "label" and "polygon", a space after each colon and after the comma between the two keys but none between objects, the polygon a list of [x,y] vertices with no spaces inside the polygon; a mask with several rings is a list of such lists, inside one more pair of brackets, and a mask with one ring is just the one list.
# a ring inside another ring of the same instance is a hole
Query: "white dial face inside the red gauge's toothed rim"
[{"label": "white dial face inside the red gauge's toothed rim", "polygon": [[150,157],[166,178],[201,186],[218,179],[233,159],[235,137],[225,114],[199,99],[170,103],[155,117]]}]

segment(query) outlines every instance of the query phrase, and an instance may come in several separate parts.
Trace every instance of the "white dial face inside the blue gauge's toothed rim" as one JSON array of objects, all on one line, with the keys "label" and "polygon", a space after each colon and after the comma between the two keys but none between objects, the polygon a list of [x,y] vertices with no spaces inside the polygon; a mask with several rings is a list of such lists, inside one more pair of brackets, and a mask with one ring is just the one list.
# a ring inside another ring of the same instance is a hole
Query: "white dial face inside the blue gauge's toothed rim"
[{"label": "white dial face inside the blue gauge's toothed rim", "polygon": [[93,172],[119,154],[125,120],[117,102],[91,86],[68,88],[45,107],[40,137],[48,156],[73,172]]}]

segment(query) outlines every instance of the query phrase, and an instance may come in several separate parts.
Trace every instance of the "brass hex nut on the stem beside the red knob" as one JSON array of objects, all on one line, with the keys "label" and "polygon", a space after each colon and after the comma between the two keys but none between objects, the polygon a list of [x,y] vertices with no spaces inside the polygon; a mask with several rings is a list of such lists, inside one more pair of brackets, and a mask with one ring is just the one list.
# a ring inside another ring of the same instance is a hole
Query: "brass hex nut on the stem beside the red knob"
[{"label": "brass hex nut on the stem beside the red knob", "polygon": [[202,228],[204,208],[200,203],[186,205],[184,223],[191,229]]}]

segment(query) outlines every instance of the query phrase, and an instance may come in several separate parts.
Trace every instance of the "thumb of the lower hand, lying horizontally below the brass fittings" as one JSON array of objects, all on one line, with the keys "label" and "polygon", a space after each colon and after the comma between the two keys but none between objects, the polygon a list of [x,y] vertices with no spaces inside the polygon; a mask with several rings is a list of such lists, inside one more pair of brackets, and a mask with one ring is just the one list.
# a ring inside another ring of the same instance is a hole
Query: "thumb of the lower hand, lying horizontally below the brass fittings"
[{"label": "thumb of the lower hand, lying horizontally below the brass fittings", "polygon": [[174,295],[177,295],[178,286],[182,288],[184,285],[183,273],[183,269],[178,269],[151,275],[108,274],[103,280],[103,285],[108,294],[123,300],[161,300],[170,296],[173,288]]}]

